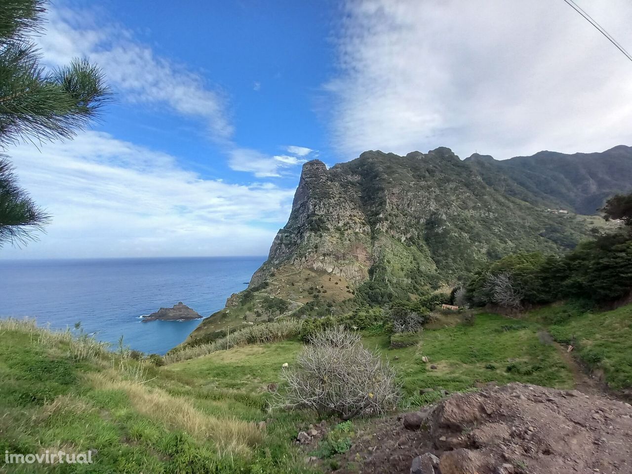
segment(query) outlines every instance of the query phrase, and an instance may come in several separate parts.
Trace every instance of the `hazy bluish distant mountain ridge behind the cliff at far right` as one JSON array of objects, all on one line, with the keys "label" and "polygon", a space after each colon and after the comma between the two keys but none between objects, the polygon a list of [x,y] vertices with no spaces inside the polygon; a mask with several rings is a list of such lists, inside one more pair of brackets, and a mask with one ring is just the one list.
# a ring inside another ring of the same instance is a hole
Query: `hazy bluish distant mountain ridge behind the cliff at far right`
[{"label": "hazy bluish distant mountain ridge behind the cliff at far right", "polygon": [[632,147],[625,145],[601,153],[542,151],[501,161],[473,154],[465,162],[508,195],[578,214],[596,214],[608,197],[632,190]]}]

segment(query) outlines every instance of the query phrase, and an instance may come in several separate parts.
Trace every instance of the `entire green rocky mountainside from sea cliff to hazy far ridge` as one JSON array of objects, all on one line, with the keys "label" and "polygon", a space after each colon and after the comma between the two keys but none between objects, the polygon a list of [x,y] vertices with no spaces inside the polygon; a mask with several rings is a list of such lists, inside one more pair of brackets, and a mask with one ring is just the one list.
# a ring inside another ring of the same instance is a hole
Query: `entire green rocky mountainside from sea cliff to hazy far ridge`
[{"label": "entire green rocky mountainside from sea cliff to hazy far ridge", "polygon": [[280,315],[349,310],[358,299],[415,300],[509,253],[564,252],[604,225],[573,210],[596,209],[626,177],[629,147],[506,161],[462,161],[439,148],[368,151],[331,169],[307,162],[269,258],[188,342]]}]

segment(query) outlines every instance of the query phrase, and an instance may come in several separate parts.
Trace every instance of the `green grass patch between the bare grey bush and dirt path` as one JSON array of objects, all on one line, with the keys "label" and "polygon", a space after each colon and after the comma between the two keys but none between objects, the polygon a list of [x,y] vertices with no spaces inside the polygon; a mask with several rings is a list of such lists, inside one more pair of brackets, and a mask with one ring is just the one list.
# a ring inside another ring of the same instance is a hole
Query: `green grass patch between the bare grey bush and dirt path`
[{"label": "green grass patch between the bare grey bush and dirt path", "polygon": [[[487,313],[478,314],[471,324],[454,324],[453,317],[448,322],[446,327],[435,322],[435,329],[419,334],[415,346],[401,349],[388,349],[387,336],[367,337],[367,346],[381,349],[396,367],[404,408],[436,401],[441,389],[464,391],[486,382],[572,386],[556,349],[540,341],[539,324]],[[421,394],[422,389],[427,390]]]}]

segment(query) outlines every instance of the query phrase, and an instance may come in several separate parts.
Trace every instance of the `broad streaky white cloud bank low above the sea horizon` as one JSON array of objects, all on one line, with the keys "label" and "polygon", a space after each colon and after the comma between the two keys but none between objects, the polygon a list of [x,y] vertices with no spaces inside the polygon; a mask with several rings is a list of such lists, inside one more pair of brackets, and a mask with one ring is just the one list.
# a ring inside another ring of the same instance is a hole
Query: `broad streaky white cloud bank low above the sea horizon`
[{"label": "broad streaky white cloud bank low above the sea horizon", "polygon": [[201,179],[161,152],[88,131],[9,151],[21,185],[53,216],[11,257],[264,255],[293,189]]}]

